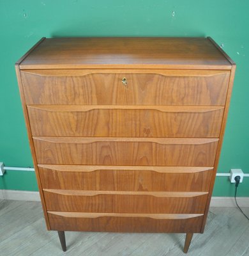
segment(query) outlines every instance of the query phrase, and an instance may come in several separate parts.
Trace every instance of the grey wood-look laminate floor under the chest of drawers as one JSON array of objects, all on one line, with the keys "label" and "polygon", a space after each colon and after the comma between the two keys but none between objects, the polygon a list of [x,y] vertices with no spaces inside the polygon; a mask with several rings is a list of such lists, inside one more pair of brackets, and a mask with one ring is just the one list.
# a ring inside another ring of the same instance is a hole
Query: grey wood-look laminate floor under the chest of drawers
[{"label": "grey wood-look laminate floor under the chest of drawers", "polygon": [[[66,232],[63,253],[57,232],[45,228],[40,203],[0,200],[1,256],[179,256],[184,241],[183,234]],[[248,256],[249,221],[236,208],[211,208],[204,234],[193,236],[187,255]]]}]

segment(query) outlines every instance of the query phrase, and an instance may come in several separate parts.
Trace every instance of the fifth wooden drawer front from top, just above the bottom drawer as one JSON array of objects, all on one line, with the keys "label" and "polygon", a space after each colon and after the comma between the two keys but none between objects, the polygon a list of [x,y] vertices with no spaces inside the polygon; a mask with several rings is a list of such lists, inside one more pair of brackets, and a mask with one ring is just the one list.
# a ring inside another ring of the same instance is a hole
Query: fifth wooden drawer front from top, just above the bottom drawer
[{"label": "fifth wooden drawer front from top, just above the bottom drawer", "polygon": [[43,189],[47,211],[204,213],[208,192]]}]

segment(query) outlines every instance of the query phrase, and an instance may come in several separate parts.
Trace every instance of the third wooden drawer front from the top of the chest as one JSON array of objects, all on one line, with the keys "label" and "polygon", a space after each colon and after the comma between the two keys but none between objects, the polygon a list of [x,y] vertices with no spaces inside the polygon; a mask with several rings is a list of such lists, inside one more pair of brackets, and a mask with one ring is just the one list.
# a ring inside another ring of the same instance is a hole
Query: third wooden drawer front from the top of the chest
[{"label": "third wooden drawer front from the top of the chest", "polygon": [[33,137],[38,164],[213,166],[218,139]]}]

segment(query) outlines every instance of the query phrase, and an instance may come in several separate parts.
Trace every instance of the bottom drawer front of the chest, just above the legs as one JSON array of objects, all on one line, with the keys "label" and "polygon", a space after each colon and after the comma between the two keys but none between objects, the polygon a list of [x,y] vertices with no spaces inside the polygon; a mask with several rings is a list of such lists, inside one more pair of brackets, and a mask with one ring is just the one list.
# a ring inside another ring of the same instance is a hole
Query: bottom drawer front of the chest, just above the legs
[{"label": "bottom drawer front of the chest, just above the legs", "polygon": [[48,212],[51,230],[199,233],[203,214]]}]

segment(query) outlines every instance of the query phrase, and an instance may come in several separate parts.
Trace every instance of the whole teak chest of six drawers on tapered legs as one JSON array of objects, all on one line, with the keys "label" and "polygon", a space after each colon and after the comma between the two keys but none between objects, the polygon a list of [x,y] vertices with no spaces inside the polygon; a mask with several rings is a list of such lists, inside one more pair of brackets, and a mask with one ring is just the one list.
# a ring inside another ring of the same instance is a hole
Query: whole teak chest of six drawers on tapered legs
[{"label": "whole teak chest of six drawers on tapered legs", "polygon": [[42,38],[16,64],[48,230],[204,232],[235,64],[211,38]]}]

